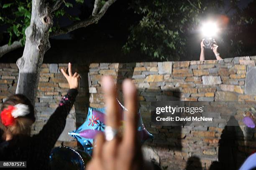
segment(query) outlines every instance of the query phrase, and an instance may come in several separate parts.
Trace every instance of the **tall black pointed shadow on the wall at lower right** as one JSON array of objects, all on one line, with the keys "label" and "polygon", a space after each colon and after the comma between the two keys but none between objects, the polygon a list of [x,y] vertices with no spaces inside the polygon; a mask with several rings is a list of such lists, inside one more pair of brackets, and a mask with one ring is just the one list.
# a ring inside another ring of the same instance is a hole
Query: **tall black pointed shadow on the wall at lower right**
[{"label": "tall black pointed shadow on the wall at lower right", "polygon": [[[232,125],[232,126],[230,126]],[[243,131],[234,116],[230,116],[219,140],[218,161],[209,170],[236,170],[246,159]]]}]

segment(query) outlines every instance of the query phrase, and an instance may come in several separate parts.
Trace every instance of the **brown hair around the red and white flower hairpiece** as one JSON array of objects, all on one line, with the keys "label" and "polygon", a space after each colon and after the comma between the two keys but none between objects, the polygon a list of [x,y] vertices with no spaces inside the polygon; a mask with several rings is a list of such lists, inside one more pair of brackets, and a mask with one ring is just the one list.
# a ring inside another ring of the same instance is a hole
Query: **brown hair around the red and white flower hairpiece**
[{"label": "brown hair around the red and white flower hairpiece", "polygon": [[31,125],[36,121],[34,107],[31,101],[25,95],[12,95],[8,97],[7,100],[1,106],[1,112],[7,108],[9,105],[17,105],[17,104],[28,105],[29,113],[26,116],[20,116],[15,118],[15,123],[12,126],[4,126],[1,123],[1,128],[4,131],[3,138],[6,133],[10,133],[12,135],[30,135],[31,133]]}]

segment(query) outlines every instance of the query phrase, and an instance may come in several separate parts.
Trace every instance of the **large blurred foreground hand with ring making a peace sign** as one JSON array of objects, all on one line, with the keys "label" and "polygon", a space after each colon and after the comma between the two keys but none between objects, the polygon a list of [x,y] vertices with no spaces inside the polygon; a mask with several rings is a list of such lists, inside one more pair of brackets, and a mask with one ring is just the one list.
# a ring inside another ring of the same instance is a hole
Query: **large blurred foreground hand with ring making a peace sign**
[{"label": "large blurred foreground hand with ring making a peace sign", "polygon": [[107,108],[105,134],[97,135],[91,162],[87,170],[143,170],[141,146],[137,141],[137,94],[131,80],[123,82],[125,125],[123,136],[118,135],[120,110],[112,77],[102,78]]}]

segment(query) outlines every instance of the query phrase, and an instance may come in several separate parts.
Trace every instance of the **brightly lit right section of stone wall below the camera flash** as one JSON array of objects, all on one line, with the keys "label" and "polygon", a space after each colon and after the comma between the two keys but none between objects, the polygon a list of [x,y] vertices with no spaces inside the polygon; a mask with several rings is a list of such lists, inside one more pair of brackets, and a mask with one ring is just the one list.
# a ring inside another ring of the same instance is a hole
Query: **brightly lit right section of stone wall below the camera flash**
[{"label": "brightly lit right section of stone wall below the camera flash", "polygon": [[[125,77],[132,78],[138,88],[143,122],[154,135],[154,139],[143,147],[148,157],[170,170],[185,169],[189,164],[202,169],[218,169],[218,161],[223,159],[235,160],[234,166],[239,168],[256,149],[256,133],[248,130],[241,121],[248,111],[246,104],[256,100],[255,60],[256,56],[190,62],[92,63],[88,77],[90,106],[104,106],[100,87],[102,75],[112,75],[119,89]],[[238,114],[235,116],[239,125],[151,125],[151,102],[173,96],[185,101],[240,101],[243,105],[236,106]],[[234,158],[233,151],[227,151],[225,145],[236,151]]]}]

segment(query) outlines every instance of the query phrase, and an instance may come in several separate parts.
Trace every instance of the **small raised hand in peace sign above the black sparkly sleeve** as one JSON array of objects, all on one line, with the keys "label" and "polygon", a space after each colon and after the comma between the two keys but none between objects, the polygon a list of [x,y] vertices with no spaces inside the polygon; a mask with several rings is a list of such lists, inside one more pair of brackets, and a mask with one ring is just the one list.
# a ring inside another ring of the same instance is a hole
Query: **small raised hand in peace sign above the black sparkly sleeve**
[{"label": "small raised hand in peace sign above the black sparkly sleeve", "polygon": [[74,75],[72,74],[72,65],[70,62],[69,62],[69,68],[68,68],[69,75],[62,68],[61,68],[61,72],[64,75],[64,77],[67,79],[70,89],[79,88],[79,80],[81,79],[81,76],[77,72],[75,72]]}]

